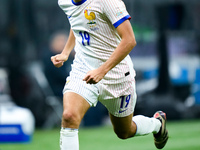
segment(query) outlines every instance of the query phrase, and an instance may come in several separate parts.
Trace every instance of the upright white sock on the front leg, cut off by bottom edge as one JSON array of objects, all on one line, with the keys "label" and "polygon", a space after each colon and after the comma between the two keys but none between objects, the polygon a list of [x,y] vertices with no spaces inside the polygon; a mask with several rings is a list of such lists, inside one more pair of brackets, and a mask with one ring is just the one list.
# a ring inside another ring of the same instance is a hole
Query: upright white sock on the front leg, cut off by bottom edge
[{"label": "upright white sock on the front leg, cut off by bottom edge", "polygon": [[79,150],[78,129],[61,128],[60,150]]}]

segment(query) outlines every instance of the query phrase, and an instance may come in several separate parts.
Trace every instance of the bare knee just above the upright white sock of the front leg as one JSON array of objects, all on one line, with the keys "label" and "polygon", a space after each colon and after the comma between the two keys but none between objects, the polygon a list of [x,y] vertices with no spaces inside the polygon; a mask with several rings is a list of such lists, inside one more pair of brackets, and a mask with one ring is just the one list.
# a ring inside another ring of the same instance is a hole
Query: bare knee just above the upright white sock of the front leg
[{"label": "bare knee just above the upright white sock of the front leg", "polygon": [[81,122],[80,117],[75,112],[64,111],[62,118],[65,127],[77,127]]}]

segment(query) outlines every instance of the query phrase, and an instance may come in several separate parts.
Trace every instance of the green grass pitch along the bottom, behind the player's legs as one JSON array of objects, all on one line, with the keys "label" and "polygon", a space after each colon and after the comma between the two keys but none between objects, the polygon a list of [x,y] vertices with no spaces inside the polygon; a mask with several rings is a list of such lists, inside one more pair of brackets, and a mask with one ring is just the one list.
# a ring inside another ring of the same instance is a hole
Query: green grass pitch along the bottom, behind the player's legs
[{"label": "green grass pitch along the bottom, behind the player's legs", "polygon": [[[164,150],[200,150],[200,120],[167,123],[169,141]],[[59,150],[59,130],[36,129],[28,144],[2,144],[0,150]],[[120,140],[111,126],[81,128],[80,150],[156,150],[152,135]]]}]

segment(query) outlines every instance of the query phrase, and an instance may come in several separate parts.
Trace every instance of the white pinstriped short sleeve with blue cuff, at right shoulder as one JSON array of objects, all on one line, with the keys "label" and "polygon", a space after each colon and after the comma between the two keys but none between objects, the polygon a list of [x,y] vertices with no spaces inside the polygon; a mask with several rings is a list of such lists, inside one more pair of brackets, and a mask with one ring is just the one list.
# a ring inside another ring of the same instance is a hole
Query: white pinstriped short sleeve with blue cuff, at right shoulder
[{"label": "white pinstriped short sleeve with blue cuff, at right shoulder", "polygon": [[122,0],[102,0],[103,10],[115,28],[131,16],[126,10],[126,6]]}]

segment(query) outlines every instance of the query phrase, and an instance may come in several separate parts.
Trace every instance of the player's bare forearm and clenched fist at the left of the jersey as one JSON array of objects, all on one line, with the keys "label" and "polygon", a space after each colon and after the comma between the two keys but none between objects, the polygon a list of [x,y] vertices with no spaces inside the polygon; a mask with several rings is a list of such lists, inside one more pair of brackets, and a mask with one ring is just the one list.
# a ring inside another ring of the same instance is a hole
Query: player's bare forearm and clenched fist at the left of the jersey
[{"label": "player's bare forearm and clenched fist at the left of the jersey", "polygon": [[51,57],[51,61],[53,62],[55,67],[59,68],[63,65],[65,61],[67,61],[74,46],[75,46],[75,36],[72,29],[70,29],[69,37],[63,51],[60,54]]}]

